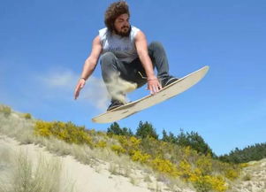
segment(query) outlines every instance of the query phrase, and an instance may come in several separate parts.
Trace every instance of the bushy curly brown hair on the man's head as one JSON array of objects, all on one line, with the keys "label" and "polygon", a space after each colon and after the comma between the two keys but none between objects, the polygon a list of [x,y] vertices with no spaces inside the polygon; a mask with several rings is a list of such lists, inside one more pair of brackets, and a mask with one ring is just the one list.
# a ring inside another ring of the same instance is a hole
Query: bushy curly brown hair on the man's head
[{"label": "bushy curly brown hair on the man's head", "polygon": [[108,28],[108,30],[113,31],[115,19],[118,18],[119,15],[128,14],[130,17],[129,8],[125,1],[118,1],[110,4],[107,8],[104,15],[104,24]]}]

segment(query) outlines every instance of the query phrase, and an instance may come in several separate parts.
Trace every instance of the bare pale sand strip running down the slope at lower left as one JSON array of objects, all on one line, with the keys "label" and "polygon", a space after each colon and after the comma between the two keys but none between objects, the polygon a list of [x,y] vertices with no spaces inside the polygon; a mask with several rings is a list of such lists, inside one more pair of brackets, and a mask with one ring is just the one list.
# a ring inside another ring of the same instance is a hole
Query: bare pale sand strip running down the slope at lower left
[{"label": "bare pale sand strip running down the slope at lower left", "polygon": [[[45,157],[49,158],[53,155],[48,151],[40,148],[34,144],[27,145],[19,145],[19,142],[6,137],[1,136],[0,145],[7,149],[11,150],[26,150],[28,157],[33,160],[33,162],[37,161],[40,153]],[[71,178],[75,181],[76,191],[79,192],[100,192],[100,191],[110,191],[110,192],[118,192],[118,191],[126,191],[126,192],[134,192],[134,191],[149,191],[147,188],[141,188],[137,186],[133,186],[129,182],[129,180],[122,176],[110,175],[107,171],[103,171],[102,173],[96,173],[95,169],[91,168],[89,165],[82,165],[80,162],[76,161],[70,156],[67,157],[57,157],[62,160],[63,163],[63,173],[67,174],[67,177]]]}]

